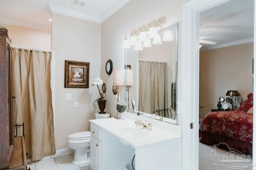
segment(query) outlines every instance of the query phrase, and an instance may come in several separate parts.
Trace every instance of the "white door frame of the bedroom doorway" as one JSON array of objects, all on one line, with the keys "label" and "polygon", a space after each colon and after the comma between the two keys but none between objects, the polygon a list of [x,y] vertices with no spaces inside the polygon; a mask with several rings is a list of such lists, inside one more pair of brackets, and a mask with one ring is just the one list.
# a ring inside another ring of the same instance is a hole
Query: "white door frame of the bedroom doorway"
[{"label": "white door frame of the bedroom doorway", "polygon": [[[183,87],[182,87],[182,170],[198,169],[198,117],[199,117],[199,28],[200,12],[228,2],[229,0],[190,0],[183,5]],[[254,11],[255,11],[254,0]],[[254,32],[256,30],[256,17],[254,12]],[[254,34],[254,39],[255,39]],[[254,51],[256,44],[254,43]],[[255,56],[255,53],[254,53]],[[254,72],[256,71],[254,62]],[[253,75],[256,80],[256,75]],[[254,83],[253,89],[256,89]],[[254,96],[256,92],[253,92]],[[256,109],[254,109],[255,113]],[[256,122],[256,116],[253,117]],[[190,123],[194,128],[190,129]],[[256,123],[253,124],[256,129]],[[253,132],[256,139],[256,131]],[[253,142],[256,146],[256,142]],[[256,147],[253,147],[256,155]],[[252,157],[256,164],[256,156]],[[256,166],[253,166],[256,170]]]}]

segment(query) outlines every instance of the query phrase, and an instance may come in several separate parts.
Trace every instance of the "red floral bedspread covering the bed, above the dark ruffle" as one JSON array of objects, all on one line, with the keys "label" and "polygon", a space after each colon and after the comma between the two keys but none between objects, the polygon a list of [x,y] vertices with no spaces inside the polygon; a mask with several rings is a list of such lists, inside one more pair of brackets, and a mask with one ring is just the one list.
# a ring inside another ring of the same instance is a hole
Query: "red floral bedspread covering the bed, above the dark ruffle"
[{"label": "red floral bedspread covering the bed, above the dark ruffle", "polygon": [[252,116],[238,109],[207,113],[199,128],[199,138],[208,132],[252,143]]}]

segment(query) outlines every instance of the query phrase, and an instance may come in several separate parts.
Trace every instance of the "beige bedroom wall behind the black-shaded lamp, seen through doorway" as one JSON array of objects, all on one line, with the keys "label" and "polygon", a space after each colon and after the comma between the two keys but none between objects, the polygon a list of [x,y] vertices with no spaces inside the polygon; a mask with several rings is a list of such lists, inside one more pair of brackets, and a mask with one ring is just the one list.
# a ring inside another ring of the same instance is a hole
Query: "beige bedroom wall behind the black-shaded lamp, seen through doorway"
[{"label": "beige bedroom wall behind the black-shaded lamp, seen through doorway", "polygon": [[247,99],[252,93],[252,59],[253,43],[200,52],[199,106],[205,107],[199,109],[199,118],[218,108],[219,98],[226,99],[228,90],[240,93],[233,108]]}]

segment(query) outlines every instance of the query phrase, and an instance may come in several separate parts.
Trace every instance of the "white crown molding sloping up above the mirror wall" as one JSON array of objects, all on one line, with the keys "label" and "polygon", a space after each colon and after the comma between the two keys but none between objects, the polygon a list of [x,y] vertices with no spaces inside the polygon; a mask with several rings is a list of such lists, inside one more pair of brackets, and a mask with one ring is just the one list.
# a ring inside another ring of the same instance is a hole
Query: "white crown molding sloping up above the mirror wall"
[{"label": "white crown molding sloping up above the mirror wall", "polygon": [[100,15],[100,21],[103,22],[118,11],[130,0],[117,0],[112,6],[110,6],[105,12]]}]

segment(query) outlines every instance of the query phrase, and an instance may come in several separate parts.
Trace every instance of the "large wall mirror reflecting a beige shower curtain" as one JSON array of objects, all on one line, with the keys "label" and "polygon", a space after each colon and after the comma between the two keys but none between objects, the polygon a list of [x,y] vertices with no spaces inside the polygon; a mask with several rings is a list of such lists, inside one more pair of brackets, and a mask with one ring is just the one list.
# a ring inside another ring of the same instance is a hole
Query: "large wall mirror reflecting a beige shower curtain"
[{"label": "large wall mirror reflecting a beige shower curtain", "polygon": [[129,112],[152,118],[155,113],[157,119],[177,124],[178,23],[160,29],[161,39],[166,31],[171,31],[172,41],[152,44],[142,51],[134,46],[125,50],[126,68],[133,70],[134,80],[133,88],[125,96]]}]

